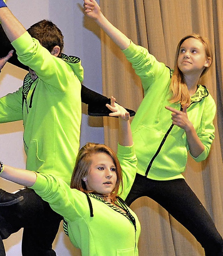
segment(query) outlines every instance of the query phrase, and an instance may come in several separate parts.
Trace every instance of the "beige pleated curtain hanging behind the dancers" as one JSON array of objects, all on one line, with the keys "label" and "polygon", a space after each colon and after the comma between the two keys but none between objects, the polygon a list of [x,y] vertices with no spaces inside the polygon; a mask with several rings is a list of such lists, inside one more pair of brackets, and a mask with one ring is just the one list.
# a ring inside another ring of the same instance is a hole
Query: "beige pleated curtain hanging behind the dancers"
[{"label": "beige pleated curtain hanging behind the dancers", "polygon": [[[189,157],[185,177],[223,235],[223,24],[222,0],[101,0],[103,14],[136,44],[167,66],[174,66],[178,41],[196,32],[208,37],[215,53],[213,66],[202,83],[217,103],[216,132],[207,160]],[[103,94],[137,110],[143,90],[124,54],[101,31]],[[105,144],[116,148],[117,123],[104,118]],[[194,237],[161,206],[149,198],[137,199],[132,209],[141,222],[139,255],[197,256],[204,251]],[[191,217],[193,218],[193,216]]]}]

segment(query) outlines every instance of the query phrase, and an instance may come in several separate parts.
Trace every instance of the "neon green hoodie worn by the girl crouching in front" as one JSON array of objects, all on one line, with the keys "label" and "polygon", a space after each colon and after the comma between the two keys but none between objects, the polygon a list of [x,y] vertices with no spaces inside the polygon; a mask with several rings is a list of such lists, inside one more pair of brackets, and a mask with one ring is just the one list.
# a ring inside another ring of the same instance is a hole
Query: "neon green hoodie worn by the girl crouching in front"
[{"label": "neon green hoodie worn by the girl crouching in front", "polygon": [[[136,176],[134,147],[118,145],[117,156],[123,170],[120,197],[125,199]],[[138,255],[140,223],[137,215],[120,200],[118,204],[129,211],[130,218],[97,195],[88,194],[89,203],[85,193],[71,189],[51,175],[37,174],[36,183],[31,188],[64,217],[64,231],[72,244],[81,249],[82,256]]]}]

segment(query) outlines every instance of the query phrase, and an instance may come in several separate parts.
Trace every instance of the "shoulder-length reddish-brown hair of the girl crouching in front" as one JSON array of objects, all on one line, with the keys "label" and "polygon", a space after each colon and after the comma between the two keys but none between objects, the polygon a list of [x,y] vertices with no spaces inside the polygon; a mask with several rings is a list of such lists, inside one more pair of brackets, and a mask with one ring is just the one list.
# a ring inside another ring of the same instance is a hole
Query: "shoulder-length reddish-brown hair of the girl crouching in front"
[{"label": "shoulder-length reddish-brown hair of the girl crouching in front", "polygon": [[72,189],[78,189],[84,193],[97,193],[97,191],[88,191],[85,182],[83,181],[83,177],[87,176],[89,172],[92,163],[92,155],[97,153],[105,153],[109,155],[112,158],[114,165],[116,167],[117,181],[115,184],[115,188],[111,193],[111,199],[113,202],[115,202],[118,196],[117,193],[119,187],[121,186],[121,188],[123,188],[122,169],[115,152],[104,144],[96,144],[89,142],[80,149],[77,155],[76,164],[71,177],[70,187]]}]

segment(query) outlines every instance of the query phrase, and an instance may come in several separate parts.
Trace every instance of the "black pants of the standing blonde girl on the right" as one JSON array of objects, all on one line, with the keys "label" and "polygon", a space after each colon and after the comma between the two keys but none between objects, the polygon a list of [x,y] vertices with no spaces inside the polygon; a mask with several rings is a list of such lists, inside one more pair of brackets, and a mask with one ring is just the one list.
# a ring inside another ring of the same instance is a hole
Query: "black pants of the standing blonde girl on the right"
[{"label": "black pants of the standing blonde girl on the right", "polygon": [[205,255],[222,256],[223,240],[213,220],[184,179],[155,181],[137,174],[126,203],[147,196],[159,203],[187,228],[205,249]]}]

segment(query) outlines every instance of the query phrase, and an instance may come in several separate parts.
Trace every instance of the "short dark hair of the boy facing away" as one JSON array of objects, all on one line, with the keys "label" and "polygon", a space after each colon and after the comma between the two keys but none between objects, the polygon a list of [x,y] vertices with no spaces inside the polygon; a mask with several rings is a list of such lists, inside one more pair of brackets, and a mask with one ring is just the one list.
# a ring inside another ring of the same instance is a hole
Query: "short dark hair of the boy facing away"
[{"label": "short dark hair of the boy facing away", "polygon": [[33,24],[27,31],[31,37],[36,38],[49,52],[53,50],[54,46],[60,46],[60,54],[58,57],[61,56],[64,44],[63,34],[52,21],[39,21]]}]

